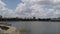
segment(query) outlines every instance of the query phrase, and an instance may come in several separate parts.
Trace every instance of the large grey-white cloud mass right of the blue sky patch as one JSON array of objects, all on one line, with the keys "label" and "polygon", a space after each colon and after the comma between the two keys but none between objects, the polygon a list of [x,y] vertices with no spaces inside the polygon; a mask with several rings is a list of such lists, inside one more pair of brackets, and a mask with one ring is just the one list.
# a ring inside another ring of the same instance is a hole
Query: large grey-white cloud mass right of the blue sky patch
[{"label": "large grey-white cloud mass right of the blue sky patch", "polygon": [[60,0],[22,0],[22,3],[16,7],[16,11],[23,16],[59,17]]}]

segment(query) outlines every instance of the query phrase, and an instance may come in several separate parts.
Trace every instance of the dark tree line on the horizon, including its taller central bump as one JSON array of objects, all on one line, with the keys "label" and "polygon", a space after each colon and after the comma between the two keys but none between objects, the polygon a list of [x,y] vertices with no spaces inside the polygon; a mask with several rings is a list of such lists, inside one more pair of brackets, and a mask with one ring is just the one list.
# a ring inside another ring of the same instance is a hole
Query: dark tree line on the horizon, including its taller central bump
[{"label": "dark tree line on the horizon, including its taller central bump", "polygon": [[51,18],[0,18],[0,21],[60,21],[60,20],[52,20]]}]

